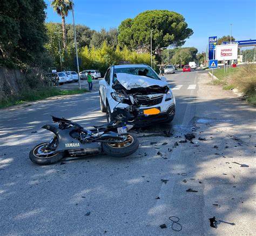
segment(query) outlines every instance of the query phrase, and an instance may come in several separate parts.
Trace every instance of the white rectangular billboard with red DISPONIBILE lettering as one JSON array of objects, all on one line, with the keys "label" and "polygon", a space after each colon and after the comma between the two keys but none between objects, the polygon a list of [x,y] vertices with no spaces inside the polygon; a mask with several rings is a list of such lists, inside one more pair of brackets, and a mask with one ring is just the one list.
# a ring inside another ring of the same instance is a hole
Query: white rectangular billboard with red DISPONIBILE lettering
[{"label": "white rectangular billboard with red DISPONIBILE lettering", "polygon": [[236,60],[238,44],[217,45],[215,58],[217,60]]}]

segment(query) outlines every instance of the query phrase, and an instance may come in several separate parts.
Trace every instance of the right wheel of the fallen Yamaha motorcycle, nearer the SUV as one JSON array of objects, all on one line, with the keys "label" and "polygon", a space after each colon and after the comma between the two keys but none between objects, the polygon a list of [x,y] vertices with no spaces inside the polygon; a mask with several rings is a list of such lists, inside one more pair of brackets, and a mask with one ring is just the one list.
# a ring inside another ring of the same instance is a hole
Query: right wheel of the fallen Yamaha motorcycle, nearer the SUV
[{"label": "right wheel of the fallen Yamaha motorcycle, nearer the SUV", "polygon": [[122,143],[114,143],[113,139],[110,139],[110,141],[110,143],[103,143],[102,148],[103,151],[111,157],[127,157],[136,152],[139,148],[138,139],[131,134],[128,134],[126,141]]}]

